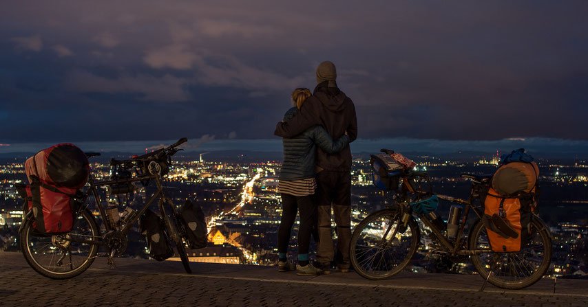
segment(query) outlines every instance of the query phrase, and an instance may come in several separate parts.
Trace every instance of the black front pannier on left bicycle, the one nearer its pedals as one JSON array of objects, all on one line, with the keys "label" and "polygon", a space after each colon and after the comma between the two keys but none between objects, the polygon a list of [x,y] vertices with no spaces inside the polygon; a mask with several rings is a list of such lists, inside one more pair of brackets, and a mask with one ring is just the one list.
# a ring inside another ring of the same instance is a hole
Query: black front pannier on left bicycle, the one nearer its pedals
[{"label": "black front pannier on left bicycle, the one nearer its pedals", "polygon": [[139,219],[139,229],[141,234],[145,236],[151,258],[163,261],[174,255],[174,250],[171,249],[169,239],[164,231],[163,221],[151,209],[147,209]]}]

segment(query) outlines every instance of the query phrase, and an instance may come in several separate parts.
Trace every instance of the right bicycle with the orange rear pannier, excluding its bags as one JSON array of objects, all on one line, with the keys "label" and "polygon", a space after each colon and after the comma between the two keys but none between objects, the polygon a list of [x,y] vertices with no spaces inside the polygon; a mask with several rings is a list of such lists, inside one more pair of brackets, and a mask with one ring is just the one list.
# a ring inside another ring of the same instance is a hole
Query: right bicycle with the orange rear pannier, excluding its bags
[{"label": "right bicycle with the orange rear pannier, excluding its bags", "polygon": [[[392,150],[381,150],[386,154]],[[415,217],[430,229],[433,244],[430,253],[454,257],[470,257],[474,268],[486,282],[507,289],[530,286],[549,269],[552,258],[552,235],[543,220],[532,214],[529,236],[521,251],[498,253],[490,248],[490,241],[481,220],[480,196],[490,185],[492,175],[461,174],[470,179],[472,186],[467,200],[437,194],[441,200],[463,205],[463,218],[455,238],[444,235],[443,225],[427,214],[414,212],[411,201],[419,195],[432,195],[430,178],[426,172],[403,172],[399,190],[386,209],[369,214],[355,227],[350,242],[350,262],[355,271],[370,280],[382,280],[402,271],[412,260],[420,245],[421,233]],[[428,190],[421,188],[428,185]],[[478,200],[479,204],[474,205]],[[469,228],[465,239],[468,215],[473,212],[477,220]],[[444,222],[443,222],[444,223]],[[466,247],[467,244],[467,247]]]}]

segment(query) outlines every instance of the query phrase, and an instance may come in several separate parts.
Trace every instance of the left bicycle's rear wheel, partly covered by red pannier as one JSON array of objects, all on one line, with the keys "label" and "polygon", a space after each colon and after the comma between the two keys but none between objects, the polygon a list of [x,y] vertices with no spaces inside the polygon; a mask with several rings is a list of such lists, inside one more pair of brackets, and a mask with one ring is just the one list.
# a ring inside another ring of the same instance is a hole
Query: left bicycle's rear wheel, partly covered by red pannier
[{"label": "left bicycle's rear wheel, partly covered by red pannier", "polygon": [[[34,219],[26,219],[21,230],[21,251],[39,274],[63,280],[83,273],[98,253],[98,225],[87,209],[76,216],[67,234],[41,234]],[[92,244],[91,242],[96,242]]]}]

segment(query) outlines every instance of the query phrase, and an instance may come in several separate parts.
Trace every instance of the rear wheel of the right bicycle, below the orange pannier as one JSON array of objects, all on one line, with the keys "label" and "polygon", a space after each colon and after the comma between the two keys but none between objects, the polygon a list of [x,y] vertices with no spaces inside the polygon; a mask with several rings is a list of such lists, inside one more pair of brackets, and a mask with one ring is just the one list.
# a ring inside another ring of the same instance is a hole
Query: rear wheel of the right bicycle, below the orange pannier
[{"label": "rear wheel of the right bicycle, below the orange pannier", "polygon": [[[529,238],[527,242],[522,243],[524,246],[521,247],[521,251],[498,253],[490,250],[487,253],[472,255],[472,264],[480,276],[487,279],[490,284],[505,289],[522,289],[538,282],[551,264],[552,239],[545,224],[536,216],[531,219],[529,229]],[[478,220],[470,230],[468,247],[470,250],[490,248],[481,220]],[[494,269],[489,277],[491,268]]]}]

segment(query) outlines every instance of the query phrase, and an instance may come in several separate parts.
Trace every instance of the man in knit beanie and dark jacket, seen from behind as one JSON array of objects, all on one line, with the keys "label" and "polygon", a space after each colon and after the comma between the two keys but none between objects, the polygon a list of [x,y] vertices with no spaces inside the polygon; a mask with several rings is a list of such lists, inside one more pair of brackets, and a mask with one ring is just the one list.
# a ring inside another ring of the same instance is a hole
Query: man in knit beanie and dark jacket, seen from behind
[{"label": "man in knit beanie and dark jacket, seen from behind", "polygon": [[[317,87],[307,98],[298,114],[287,123],[279,122],[275,135],[294,137],[307,128],[322,125],[333,139],[346,132],[350,141],[357,138],[357,118],[353,102],[337,87],[337,70],[332,62],[322,62],[316,71]],[[317,191],[319,242],[317,264],[324,273],[330,273],[330,262],[335,258],[330,229],[330,212],[333,207],[337,224],[337,269],[349,271],[349,243],[351,240],[351,151],[329,155],[317,149]]]}]

